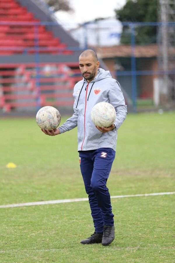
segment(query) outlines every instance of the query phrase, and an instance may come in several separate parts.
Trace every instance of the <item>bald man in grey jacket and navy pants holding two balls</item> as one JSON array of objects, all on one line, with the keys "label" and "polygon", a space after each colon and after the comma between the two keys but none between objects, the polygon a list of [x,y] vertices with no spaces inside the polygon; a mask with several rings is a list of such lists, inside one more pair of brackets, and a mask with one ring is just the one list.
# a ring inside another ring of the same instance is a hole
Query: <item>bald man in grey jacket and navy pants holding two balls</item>
[{"label": "bald man in grey jacket and navy pants holding two balls", "polygon": [[[115,158],[117,130],[126,118],[127,107],[120,84],[99,64],[93,50],[80,54],[83,79],[74,86],[74,114],[59,128],[42,131],[55,136],[78,126],[80,169],[95,227],[95,232],[81,244],[109,245],[115,238],[115,227],[106,182]],[[93,106],[102,101],[111,103],[116,111],[116,120],[108,128],[94,126],[90,118]]]}]

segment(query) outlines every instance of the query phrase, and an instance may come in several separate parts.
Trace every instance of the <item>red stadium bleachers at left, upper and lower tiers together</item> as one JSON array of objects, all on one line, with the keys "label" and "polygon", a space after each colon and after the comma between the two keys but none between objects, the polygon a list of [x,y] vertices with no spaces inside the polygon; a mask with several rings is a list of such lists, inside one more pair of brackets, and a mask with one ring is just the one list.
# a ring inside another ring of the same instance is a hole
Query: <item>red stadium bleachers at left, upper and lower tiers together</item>
[{"label": "red stadium bleachers at left, upper and lower tiers together", "polygon": [[[68,43],[54,37],[53,32],[39,22],[17,1],[1,0],[0,56],[35,53],[69,56],[74,53],[67,49]],[[72,90],[81,78],[77,68],[77,60],[0,64],[0,109],[10,112],[45,105],[72,106]]]}]

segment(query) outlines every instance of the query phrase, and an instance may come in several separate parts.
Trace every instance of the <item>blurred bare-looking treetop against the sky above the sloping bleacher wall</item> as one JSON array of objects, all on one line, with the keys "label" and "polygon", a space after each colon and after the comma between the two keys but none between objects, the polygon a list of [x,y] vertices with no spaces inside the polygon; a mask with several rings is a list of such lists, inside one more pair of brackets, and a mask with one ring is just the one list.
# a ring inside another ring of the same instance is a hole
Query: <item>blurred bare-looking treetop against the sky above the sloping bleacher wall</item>
[{"label": "blurred bare-looking treetop against the sky above the sloping bleacher wall", "polygon": [[48,6],[52,7],[53,12],[56,11],[73,11],[68,0],[44,0]]}]

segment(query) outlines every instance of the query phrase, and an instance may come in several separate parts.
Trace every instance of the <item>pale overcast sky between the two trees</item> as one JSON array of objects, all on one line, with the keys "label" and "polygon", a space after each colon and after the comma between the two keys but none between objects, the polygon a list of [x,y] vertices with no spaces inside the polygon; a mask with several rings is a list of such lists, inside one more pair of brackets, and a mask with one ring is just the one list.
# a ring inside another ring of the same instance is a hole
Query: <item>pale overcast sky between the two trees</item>
[{"label": "pale overcast sky between the two trees", "polygon": [[99,17],[115,17],[114,9],[121,8],[126,0],[69,0],[74,8],[74,13],[58,11],[58,20],[67,28],[76,27],[78,23],[84,23]]}]

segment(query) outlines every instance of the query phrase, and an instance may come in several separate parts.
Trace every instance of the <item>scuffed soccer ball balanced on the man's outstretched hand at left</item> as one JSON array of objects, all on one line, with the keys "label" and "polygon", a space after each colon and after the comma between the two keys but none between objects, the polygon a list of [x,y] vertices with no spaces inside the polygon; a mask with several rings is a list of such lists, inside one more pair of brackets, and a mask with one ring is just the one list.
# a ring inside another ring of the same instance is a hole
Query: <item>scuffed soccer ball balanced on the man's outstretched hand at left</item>
[{"label": "scuffed soccer ball balanced on the man's outstretched hand at left", "polygon": [[38,110],[36,114],[36,123],[41,129],[56,129],[60,124],[61,116],[57,109],[52,106],[45,106]]}]

